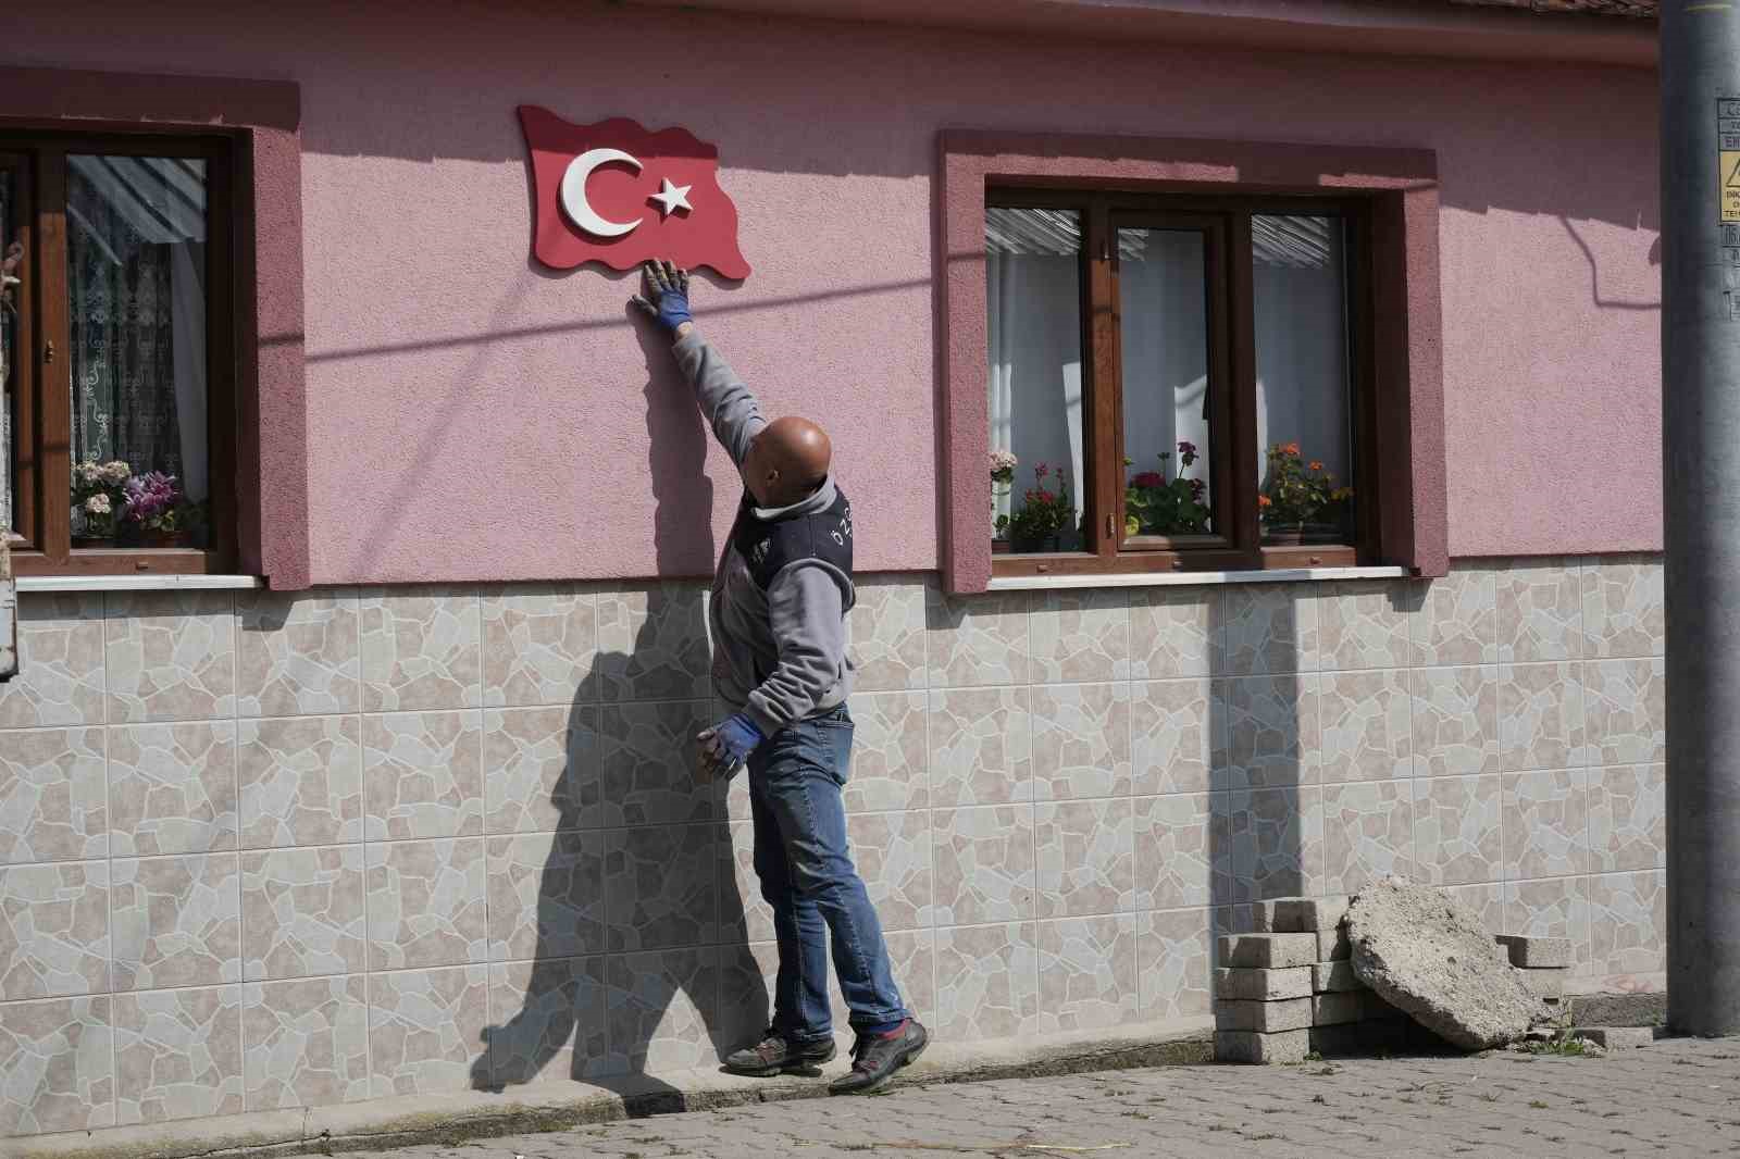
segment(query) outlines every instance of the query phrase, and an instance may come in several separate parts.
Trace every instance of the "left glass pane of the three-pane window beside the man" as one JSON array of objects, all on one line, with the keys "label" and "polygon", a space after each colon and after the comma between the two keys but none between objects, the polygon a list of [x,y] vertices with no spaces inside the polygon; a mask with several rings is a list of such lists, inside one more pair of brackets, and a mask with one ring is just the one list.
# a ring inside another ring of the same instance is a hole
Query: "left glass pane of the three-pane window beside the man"
[{"label": "left glass pane of the three-pane window beside the man", "polygon": [[1081,548],[1081,249],[1075,211],[985,211],[992,524],[1002,541],[999,550]]}]

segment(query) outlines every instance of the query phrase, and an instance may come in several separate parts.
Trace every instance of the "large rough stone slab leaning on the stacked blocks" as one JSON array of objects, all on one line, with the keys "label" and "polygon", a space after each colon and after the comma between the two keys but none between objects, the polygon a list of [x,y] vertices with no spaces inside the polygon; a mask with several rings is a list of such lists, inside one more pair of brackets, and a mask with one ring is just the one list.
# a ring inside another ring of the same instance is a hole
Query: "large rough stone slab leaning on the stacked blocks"
[{"label": "large rough stone slab leaning on the stacked blocks", "polygon": [[1517,971],[1493,959],[1481,917],[1430,886],[1376,882],[1347,921],[1359,980],[1448,1042],[1500,1046],[1545,1016]]}]

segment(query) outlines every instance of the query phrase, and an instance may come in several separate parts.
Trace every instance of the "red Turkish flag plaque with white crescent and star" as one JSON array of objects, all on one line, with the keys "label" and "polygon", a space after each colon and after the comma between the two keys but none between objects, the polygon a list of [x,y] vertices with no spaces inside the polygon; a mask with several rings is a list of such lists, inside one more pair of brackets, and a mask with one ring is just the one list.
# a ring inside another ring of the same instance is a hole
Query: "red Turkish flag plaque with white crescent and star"
[{"label": "red Turkish flag plaque with white crescent and star", "polygon": [[687,129],[649,132],[626,117],[592,125],[520,106],[532,155],[532,254],[555,270],[651,258],[741,280],[738,207],[719,188],[719,148]]}]

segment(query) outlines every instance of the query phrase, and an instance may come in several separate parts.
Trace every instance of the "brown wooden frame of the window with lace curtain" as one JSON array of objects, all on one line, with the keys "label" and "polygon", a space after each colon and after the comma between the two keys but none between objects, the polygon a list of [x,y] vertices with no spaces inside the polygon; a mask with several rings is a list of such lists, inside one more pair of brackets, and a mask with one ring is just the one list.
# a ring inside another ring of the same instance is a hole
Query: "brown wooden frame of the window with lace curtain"
[{"label": "brown wooden frame of the window with lace curtain", "polygon": [[[181,157],[205,162],[205,392],[211,534],[204,548],[73,548],[71,318],[68,287],[66,157]],[[0,165],[21,158],[31,221],[19,327],[19,421],[14,428],[12,567],[21,576],[137,576],[233,573],[238,564],[237,146],[226,134],[14,131],[0,125]],[[26,240],[28,238],[28,240]],[[59,357],[54,357],[59,352]],[[56,480],[61,480],[59,486]]]}]

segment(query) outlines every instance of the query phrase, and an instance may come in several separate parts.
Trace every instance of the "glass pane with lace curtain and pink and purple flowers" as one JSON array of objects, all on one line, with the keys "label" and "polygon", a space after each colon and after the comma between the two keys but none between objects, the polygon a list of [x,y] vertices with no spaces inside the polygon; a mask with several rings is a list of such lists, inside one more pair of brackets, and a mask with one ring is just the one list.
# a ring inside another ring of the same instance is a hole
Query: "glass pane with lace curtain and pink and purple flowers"
[{"label": "glass pane with lace curtain and pink and purple flowers", "polygon": [[205,162],[66,158],[73,536],[205,543]]}]

